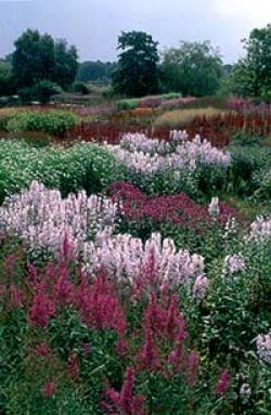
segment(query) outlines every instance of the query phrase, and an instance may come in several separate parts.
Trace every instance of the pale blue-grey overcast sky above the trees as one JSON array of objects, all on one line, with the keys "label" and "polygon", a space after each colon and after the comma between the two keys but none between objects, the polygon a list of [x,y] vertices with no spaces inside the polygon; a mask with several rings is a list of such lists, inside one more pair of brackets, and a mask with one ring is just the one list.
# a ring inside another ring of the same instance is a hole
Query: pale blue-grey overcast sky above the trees
[{"label": "pale blue-grey overcast sky above the trees", "polygon": [[65,38],[80,60],[116,59],[121,30],[144,30],[163,50],[180,40],[211,40],[227,63],[241,39],[271,23],[271,0],[0,0],[0,56],[27,27]]}]

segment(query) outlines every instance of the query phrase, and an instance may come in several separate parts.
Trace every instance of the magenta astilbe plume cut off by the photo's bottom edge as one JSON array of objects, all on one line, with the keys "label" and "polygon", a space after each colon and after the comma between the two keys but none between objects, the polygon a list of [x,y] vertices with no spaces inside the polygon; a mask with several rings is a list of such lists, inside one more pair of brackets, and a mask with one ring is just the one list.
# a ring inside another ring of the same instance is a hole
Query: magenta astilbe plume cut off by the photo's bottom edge
[{"label": "magenta astilbe plume cut off by the photo's bottom edge", "polygon": [[120,392],[108,389],[106,397],[109,403],[103,403],[103,407],[111,415],[146,415],[144,410],[145,399],[141,394],[133,394],[136,372],[128,367]]}]

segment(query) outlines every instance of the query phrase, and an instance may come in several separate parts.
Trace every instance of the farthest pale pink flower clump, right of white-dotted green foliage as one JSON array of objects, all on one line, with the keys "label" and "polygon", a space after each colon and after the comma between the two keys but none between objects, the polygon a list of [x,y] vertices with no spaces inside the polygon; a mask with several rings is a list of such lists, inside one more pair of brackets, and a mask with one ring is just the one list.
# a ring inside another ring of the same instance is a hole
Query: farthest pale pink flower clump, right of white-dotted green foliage
[{"label": "farthest pale pink flower clump, right of white-dotted green foliage", "polygon": [[186,140],[185,131],[171,132],[176,147],[166,141],[149,139],[141,133],[127,134],[119,145],[104,144],[106,148],[128,169],[139,173],[156,173],[162,170],[190,169],[197,166],[218,166],[227,169],[231,157],[196,135]]}]

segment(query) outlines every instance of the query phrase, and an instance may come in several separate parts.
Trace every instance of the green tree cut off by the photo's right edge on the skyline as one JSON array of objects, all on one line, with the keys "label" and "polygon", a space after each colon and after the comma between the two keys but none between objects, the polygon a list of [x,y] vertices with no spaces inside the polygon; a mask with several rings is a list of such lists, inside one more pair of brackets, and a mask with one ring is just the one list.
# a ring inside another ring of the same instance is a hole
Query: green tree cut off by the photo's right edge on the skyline
[{"label": "green tree cut off by the photo's right edge on the skyline", "polygon": [[243,40],[245,57],[233,70],[233,86],[245,96],[271,99],[271,25],[250,31]]}]

